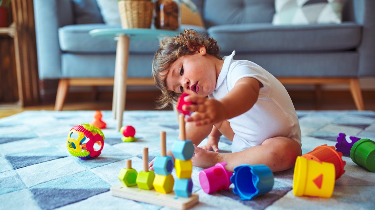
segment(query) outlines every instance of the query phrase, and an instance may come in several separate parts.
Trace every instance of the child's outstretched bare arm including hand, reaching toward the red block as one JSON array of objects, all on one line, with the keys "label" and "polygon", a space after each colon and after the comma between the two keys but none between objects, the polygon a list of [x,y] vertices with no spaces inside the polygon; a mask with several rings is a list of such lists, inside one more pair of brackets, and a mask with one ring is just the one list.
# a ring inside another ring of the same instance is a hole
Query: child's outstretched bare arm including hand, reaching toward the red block
[{"label": "child's outstretched bare arm including hand, reaching toward the red block", "polygon": [[185,101],[196,105],[184,105],[183,110],[195,112],[187,122],[207,125],[231,119],[247,112],[258,100],[260,82],[252,77],[244,77],[236,82],[234,88],[220,100],[189,95]]}]

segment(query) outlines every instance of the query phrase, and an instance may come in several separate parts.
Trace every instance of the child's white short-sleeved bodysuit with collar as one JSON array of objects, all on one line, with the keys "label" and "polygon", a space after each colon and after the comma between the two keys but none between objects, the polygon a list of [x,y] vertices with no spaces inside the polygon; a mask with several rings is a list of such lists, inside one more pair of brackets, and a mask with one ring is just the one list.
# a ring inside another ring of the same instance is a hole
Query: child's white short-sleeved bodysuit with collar
[{"label": "child's white short-sleeved bodysuit with collar", "polygon": [[216,88],[209,95],[219,100],[243,77],[252,77],[263,84],[257,102],[247,112],[228,119],[234,131],[232,152],[261,145],[264,140],[285,136],[301,144],[301,129],[292,100],[276,77],[259,65],[246,60],[233,60],[236,52],[224,57]]}]

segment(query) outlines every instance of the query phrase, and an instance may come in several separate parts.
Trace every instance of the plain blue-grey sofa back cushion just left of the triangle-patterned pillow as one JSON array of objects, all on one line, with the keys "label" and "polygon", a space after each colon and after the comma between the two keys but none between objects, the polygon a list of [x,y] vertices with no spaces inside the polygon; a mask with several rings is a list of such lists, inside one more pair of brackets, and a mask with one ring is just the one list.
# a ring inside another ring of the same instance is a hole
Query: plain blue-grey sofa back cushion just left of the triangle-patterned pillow
[{"label": "plain blue-grey sofa back cushion just left of the triangle-patterned pillow", "polygon": [[203,19],[214,25],[272,22],[275,0],[205,0]]}]

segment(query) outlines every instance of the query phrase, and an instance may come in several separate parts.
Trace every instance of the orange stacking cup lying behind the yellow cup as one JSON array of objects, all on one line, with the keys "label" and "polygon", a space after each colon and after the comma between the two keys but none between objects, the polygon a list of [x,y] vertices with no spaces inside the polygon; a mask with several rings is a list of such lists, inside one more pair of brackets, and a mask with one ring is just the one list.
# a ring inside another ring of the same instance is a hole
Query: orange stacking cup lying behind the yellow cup
[{"label": "orange stacking cup lying behind the yellow cup", "polygon": [[327,146],[324,144],[322,146],[316,147],[309,153],[302,155],[302,157],[308,160],[314,160],[317,162],[330,162],[335,165],[335,172],[336,172],[336,180],[341,177],[342,174],[345,173],[344,166],[347,164],[345,161],[342,160],[342,153],[337,152],[334,146]]}]

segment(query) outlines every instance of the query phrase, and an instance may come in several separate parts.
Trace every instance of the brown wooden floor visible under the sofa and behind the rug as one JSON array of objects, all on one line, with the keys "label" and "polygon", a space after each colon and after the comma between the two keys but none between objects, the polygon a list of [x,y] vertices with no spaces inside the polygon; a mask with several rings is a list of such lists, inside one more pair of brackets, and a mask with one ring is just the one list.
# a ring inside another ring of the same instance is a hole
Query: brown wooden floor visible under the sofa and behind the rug
[{"label": "brown wooden floor visible under the sofa and behind the rug", "polygon": [[[97,100],[83,97],[84,93],[69,93],[63,110],[111,110],[111,92],[99,94]],[[356,109],[349,91],[323,91],[320,103],[317,103],[314,91],[289,91],[296,110],[352,110]],[[159,92],[129,92],[125,110],[156,110],[154,99]],[[363,91],[366,110],[375,111],[375,91]],[[14,115],[25,110],[54,110],[54,104],[40,106],[15,107],[0,105],[0,118]]]}]

